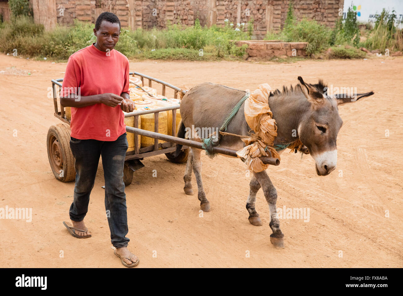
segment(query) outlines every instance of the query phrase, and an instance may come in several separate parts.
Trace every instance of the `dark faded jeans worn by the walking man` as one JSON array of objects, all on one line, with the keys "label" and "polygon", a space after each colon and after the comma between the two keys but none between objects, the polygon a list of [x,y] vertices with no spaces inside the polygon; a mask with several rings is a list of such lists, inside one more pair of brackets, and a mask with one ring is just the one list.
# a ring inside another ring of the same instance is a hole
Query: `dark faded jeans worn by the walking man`
[{"label": "dark faded jeans worn by the walking man", "polygon": [[88,211],[89,194],[94,186],[100,155],[104,167],[105,209],[108,217],[110,238],[116,248],[127,246],[127,207],[123,166],[127,151],[126,133],[116,141],[79,140],[70,138],[75,157],[76,182],[74,201],[70,207],[70,219],[83,221]]}]

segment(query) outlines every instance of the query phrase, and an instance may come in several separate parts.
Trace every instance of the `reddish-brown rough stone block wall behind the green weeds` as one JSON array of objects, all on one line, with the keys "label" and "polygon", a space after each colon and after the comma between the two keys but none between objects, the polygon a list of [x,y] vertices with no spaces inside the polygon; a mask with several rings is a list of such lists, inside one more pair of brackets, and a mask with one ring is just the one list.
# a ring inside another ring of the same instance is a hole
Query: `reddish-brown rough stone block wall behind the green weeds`
[{"label": "reddish-brown rough stone block wall behind the green weeds", "polygon": [[[315,19],[334,26],[344,0],[293,0],[298,20]],[[253,37],[263,39],[267,31],[283,28],[289,0],[59,0],[57,21],[71,24],[74,19],[95,22],[103,11],[114,12],[123,27],[165,28],[167,23],[202,26],[248,23],[253,19]],[[64,15],[60,14],[60,8]],[[246,26],[245,26],[246,27]]]}]

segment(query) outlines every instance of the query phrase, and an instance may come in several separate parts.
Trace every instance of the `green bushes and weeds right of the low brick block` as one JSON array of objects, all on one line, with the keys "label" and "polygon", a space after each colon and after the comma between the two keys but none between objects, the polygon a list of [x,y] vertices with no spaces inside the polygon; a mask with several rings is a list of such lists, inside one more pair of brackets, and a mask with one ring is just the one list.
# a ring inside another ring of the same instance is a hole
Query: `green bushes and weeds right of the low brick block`
[{"label": "green bushes and weeds right of the low brick block", "polygon": [[[316,21],[302,19],[297,22],[293,14],[293,2],[289,4],[287,19],[280,32],[268,32],[265,39],[280,39],[286,42],[309,42],[307,54],[324,53],[328,58],[362,58],[365,53],[357,48],[365,47],[368,50],[380,49],[384,51],[403,50],[403,33],[396,28],[397,16],[395,11],[389,14],[385,9],[376,17],[375,27],[365,24],[360,31],[357,14],[349,7],[346,19],[338,18],[334,28],[328,29]],[[361,40],[361,42],[360,42]]]}]

